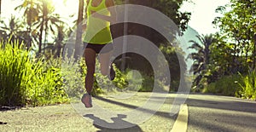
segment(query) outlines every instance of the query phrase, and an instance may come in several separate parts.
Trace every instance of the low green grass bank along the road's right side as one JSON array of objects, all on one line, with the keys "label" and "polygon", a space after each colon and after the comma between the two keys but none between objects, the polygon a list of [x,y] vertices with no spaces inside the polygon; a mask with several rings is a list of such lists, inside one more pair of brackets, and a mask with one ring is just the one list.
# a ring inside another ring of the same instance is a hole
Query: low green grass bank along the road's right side
[{"label": "low green grass bank along the road's right side", "polygon": [[201,92],[256,100],[256,71],[249,70],[245,75],[221,77],[218,81],[206,85]]}]

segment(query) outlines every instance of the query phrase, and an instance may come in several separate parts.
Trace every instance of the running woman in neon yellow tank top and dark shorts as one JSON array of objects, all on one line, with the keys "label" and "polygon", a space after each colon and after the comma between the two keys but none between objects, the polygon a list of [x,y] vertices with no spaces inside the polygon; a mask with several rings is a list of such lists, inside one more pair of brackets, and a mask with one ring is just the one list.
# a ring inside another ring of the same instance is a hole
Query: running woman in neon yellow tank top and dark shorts
[{"label": "running woman in neon yellow tank top and dark shorts", "polygon": [[[110,23],[116,20],[116,12],[113,8],[113,0],[87,0],[87,23],[84,34],[84,58],[87,66],[85,77],[86,94],[81,101],[85,107],[92,107],[91,91],[94,83],[96,55],[99,57],[101,72],[110,80],[115,77],[113,66],[110,65],[110,56],[113,50],[113,38],[110,31]],[[102,29],[102,27],[104,27]]]}]

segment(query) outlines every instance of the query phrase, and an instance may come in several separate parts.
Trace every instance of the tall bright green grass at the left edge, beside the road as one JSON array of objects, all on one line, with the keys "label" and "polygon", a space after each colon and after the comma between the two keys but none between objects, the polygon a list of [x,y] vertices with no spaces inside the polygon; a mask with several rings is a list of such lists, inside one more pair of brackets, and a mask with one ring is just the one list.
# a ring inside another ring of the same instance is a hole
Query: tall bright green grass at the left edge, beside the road
[{"label": "tall bright green grass at the left edge, beside the road", "polygon": [[0,106],[67,102],[59,63],[30,55],[23,44],[0,43]]}]

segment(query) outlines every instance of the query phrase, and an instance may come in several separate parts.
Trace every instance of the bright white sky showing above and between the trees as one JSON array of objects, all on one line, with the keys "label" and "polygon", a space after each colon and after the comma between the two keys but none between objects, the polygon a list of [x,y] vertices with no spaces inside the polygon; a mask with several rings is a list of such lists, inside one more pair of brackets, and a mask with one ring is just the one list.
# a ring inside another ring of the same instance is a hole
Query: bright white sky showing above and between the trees
[{"label": "bright white sky showing above and between the trees", "polygon": [[[217,30],[212,26],[212,20],[218,14],[215,9],[220,5],[229,3],[230,0],[192,0],[194,3],[184,3],[181,10],[186,10],[192,13],[189,21],[189,26],[194,28],[199,34],[214,33]],[[10,14],[14,14],[14,9],[20,5],[23,0],[2,0],[2,14],[3,18],[10,18]],[[56,13],[67,17],[70,14],[78,12],[79,0],[67,0],[66,5],[62,0],[53,0]],[[22,15],[16,12],[15,15]]]}]

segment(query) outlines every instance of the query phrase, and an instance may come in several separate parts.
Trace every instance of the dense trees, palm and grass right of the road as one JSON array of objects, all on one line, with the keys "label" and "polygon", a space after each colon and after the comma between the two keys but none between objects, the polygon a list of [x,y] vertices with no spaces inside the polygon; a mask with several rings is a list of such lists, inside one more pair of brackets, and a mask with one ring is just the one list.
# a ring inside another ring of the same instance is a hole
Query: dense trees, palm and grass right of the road
[{"label": "dense trees, palm and grass right of the road", "polygon": [[216,9],[222,17],[212,23],[219,32],[191,41],[195,90],[255,100],[255,7],[252,0],[230,0]]}]

